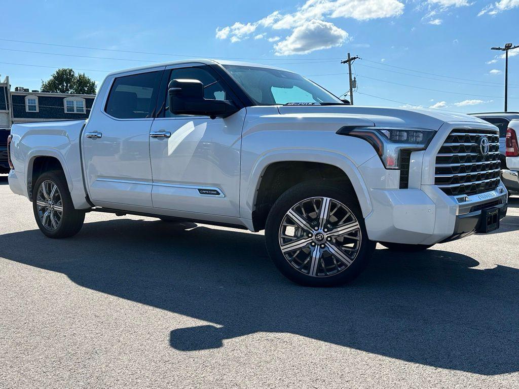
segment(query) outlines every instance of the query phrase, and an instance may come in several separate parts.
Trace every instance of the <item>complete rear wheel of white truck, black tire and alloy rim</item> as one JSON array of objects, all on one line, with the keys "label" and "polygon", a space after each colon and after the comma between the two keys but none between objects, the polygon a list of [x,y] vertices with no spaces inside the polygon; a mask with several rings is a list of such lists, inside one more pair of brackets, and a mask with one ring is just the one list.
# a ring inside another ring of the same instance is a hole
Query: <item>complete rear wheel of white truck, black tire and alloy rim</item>
[{"label": "complete rear wheel of white truck, black tire and alloy rim", "polygon": [[50,171],[34,185],[33,211],[40,231],[49,238],[67,238],[83,226],[85,212],[74,208],[63,172]]}]

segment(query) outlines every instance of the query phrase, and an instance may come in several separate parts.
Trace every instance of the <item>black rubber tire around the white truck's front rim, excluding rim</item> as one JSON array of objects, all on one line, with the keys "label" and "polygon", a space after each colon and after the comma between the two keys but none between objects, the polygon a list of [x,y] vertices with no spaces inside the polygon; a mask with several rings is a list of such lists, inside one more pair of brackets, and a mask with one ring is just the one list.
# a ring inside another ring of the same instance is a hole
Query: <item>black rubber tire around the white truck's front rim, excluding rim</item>
[{"label": "black rubber tire around the white truck's front rim, excluding rim", "polygon": [[[285,214],[299,202],[313,198],[327,197],[344,204],[357,219],[360,226],[361,241],[357,256],[344,270],[334,275],[311,276],[297,270],[281,252],[279,231]],[[285,191],[272,206],[265,226],[267,251],[279,271],[291,281],[304,286],[337,286],[355,279],[373,255],[375,242],[368,240],[364,218],[357,198],[347,188],[337,188],[326,180],[305,182]]]}]

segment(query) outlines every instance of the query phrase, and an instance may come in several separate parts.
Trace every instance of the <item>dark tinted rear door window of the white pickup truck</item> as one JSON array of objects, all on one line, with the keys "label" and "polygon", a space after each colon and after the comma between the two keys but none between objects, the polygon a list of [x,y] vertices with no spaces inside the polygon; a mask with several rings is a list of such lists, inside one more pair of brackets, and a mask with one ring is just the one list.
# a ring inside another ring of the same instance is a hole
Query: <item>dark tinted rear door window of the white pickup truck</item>
[{"label": "dark tinted rear door window of the white pickup truck", "polygon": [[148,72],[116,78],[105,112],[119,119],[152,117],[161,73]]}]

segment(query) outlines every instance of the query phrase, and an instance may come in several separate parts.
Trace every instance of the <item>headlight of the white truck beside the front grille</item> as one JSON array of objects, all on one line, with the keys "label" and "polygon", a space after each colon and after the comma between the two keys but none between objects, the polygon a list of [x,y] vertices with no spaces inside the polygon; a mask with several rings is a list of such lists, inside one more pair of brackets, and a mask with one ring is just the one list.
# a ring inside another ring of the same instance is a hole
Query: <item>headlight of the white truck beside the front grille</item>
[{"label": "headlight of the white truck beside the front grille", "polygon": [[343,127],[337,134],[361,138],[377,151],[386,169],[400,169],[400,150],[425,150],[436,131],[375,127]]}]

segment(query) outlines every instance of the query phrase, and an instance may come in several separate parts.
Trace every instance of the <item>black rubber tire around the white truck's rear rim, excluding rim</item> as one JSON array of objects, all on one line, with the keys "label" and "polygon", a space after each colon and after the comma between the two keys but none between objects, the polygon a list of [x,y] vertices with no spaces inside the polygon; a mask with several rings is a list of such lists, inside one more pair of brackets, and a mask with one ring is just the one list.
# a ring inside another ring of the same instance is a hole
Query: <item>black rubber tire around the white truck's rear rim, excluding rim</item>
[{"label": "black rubber tire around the white truck's rear rim, excluding rim", "polygon": [[[62,217],[59,221],[58,227],[53,230],[50,230],[43,225],[42,220],[40,220],[39,217],[37,205],[38,191],[40,186],[42,186],[46,181],[50,181],[58,187],[63,207]],[[81,227],[83,227],[83,222],[85,221],[85,211],[76,210],[74,208],[70,196],[69,185],[66,182],[65,175],[59,170],[45,172],[36,180],[33,191],[33,212],[40,231],[49,238],[57,239],[72,237],[79,232]]]}]

